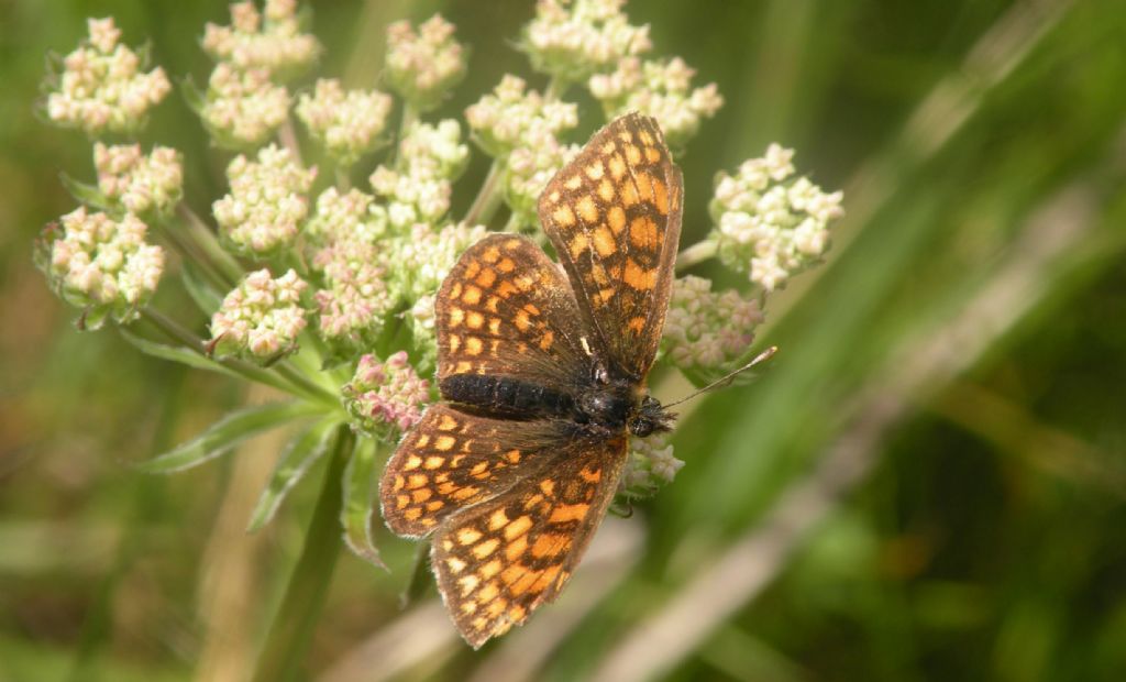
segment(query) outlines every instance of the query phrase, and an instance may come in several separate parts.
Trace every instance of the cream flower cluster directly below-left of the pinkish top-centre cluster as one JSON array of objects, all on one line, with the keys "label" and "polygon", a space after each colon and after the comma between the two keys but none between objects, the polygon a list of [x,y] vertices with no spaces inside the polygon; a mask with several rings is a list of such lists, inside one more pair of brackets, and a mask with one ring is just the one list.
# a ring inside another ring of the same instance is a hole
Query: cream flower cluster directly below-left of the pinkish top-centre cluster
[{"label": "cream flower cluster directly below-left of the pinkish top-centre cluster", "polygon": [[345,91],[339,80],[320,79],[297,100],[297,117],[309,134],[342,166],[355,163],[383,142],[391,96],[378,90]]}]

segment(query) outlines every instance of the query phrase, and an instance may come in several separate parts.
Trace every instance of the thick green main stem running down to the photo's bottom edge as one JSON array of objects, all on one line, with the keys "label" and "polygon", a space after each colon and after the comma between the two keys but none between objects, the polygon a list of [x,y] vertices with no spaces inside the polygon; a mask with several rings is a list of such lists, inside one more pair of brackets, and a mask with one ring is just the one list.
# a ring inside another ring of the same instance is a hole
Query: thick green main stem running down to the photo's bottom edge
[{"label": "thick green main stem running down to the photo's bottom edge", "polygon": [[336,444],[321,484],[305,546],[289,576],[282,604],[270,625],[254,671],[256,682],[285,682],[301,676],[302,662],[316,626],[332,569],[340,556],[340,510],[345,468],[356,439],[347,425],[337,429]]}]

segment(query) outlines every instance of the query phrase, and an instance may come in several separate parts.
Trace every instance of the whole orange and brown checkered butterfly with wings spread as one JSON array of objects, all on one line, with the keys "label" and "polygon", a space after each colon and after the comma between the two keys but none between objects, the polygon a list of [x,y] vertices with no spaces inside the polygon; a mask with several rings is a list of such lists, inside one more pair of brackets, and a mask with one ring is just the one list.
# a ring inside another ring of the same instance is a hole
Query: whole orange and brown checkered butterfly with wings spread
[{"label": "whole orange and brown checkered butterfly with wings spread", "polygon": [[387,463],[383,516],[428,537],[473,647],[558,595],[614,499],[629,436],[668,431],[649,396],[683,195],[653,118],[591,138],[547,184],[534,241],[492,234],[438,292],[438,387]]}]

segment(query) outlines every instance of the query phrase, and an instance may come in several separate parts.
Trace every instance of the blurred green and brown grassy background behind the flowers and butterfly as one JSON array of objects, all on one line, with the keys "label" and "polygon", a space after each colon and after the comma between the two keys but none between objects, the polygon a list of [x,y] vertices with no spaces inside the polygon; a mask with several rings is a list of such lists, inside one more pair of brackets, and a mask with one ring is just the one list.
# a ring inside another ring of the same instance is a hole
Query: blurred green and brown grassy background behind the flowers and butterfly
[{"label": "blurred green and brown grassy background behind the flowers and butterfly", "polygon": [[[533,77],[512,50],[530,1],[312,5],[319,73],[352,87],[377,76],[388,21],[434,11],[472,46],[440,114]],[[302,674],[1126,679],[1126,5],[627,11],[726,99],[681,160],[685,243],[709,229],[714,174],[779,141],[846,192],[828,263],[770,300],[769,370],[691,406],[687,466],[607,522],[555,605],[474,654],[432,594],[400,611],[413,549],[381,524],[392,573],[341,558]],[[107,15],[196,82],[204,23],[229,21],[212,1],[0,1],[0,680],[240,680],[316,486],[248,537],[279,439],[131,470],[248,396],[77,333],[30,260],[74,207],[59,174],[92,179],[82,135],[34,114],[45,55]],[[579,101],[589,130],[600,114]],[[178,96],[145,139],[185,152],[197,209],[222,195],[226,157]],[[455,213],[486,167],[474,153]],[[188,309],[164,289],[158,304]]]}]

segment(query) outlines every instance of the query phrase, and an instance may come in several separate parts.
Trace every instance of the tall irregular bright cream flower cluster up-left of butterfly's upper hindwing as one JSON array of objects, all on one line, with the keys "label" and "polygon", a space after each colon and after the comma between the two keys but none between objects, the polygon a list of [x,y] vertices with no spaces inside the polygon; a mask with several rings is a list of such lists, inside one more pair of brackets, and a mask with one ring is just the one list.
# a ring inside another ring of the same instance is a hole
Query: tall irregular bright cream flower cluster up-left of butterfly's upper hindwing
[{"label": "tall irregular bright cream flower cluster up-left of butterfly's upper hindwing", "polygon": [[379,166],[369,178],[386,201],[391,225],[402,233],[414,223],[437,224],[449,211],[453,181],[465,170],[468,156],[456,121],[412,125],[399,143],[395,168]]}]

